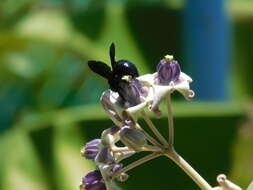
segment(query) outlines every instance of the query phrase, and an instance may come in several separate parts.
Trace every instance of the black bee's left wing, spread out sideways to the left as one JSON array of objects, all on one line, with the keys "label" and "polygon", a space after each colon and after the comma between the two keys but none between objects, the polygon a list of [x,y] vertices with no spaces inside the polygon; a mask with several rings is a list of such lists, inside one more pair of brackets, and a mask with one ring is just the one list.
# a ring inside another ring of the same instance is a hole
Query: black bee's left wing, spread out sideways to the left
[{"label": "black bee's left wing, spread out sideways to the left", "polygon": [[93,72],[106,79],[109,79],[112,74],[111,68],[101,61],[88,61],[88,66]]}]

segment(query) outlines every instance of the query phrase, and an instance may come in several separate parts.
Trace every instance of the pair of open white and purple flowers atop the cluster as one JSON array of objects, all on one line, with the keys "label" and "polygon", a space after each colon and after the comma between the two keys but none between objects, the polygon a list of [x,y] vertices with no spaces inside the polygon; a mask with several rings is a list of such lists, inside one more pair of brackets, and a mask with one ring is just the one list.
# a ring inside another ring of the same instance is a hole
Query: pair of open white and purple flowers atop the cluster
[{"label": "pair of open white and purple flowers atop the cluster", "polygon": [[121,125],[123,112],[127,112],[136,119],[135,113],[146,107],[159,117],[161,100],[175,90],[183,94],[187,100],[194,97],[194,92],[190,89],[191,82],[191,77],[181,72],[173,56],[166,55],[160,60],[157,72],[128,80],[127,85],[123,88],[127,96],[125,99],[128,101],[122,103],[119,93],[108,89],[103,93],[101,102],[116,125]]}]

